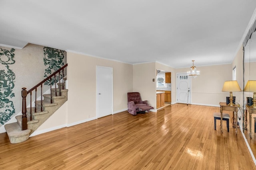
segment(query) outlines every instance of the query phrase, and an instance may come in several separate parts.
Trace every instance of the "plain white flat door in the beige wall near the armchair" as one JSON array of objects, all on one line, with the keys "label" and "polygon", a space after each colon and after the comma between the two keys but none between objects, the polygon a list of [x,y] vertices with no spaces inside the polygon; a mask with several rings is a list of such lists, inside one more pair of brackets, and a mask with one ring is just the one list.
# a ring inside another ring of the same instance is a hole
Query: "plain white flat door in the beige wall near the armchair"
[{"label": "plain white flat door in the beige wall near the armchair", "polygon": [[113,114],[113,68],[97,66],[97,117]]}]

